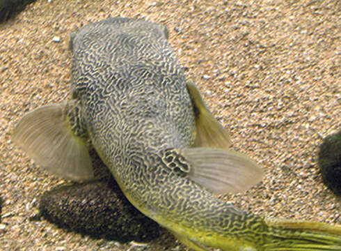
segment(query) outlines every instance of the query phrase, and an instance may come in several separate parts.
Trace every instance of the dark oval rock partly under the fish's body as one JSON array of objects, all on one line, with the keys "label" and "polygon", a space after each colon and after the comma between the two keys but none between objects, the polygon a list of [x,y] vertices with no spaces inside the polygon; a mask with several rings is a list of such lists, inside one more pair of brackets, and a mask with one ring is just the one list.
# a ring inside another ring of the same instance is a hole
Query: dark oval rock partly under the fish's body
[{"label": "dark oval rock partly under the fish's body", "polygon": [[45,192],[40,215],[59,227],[109,240],[150,241],[163,231],[129,203],[113,178]]}]

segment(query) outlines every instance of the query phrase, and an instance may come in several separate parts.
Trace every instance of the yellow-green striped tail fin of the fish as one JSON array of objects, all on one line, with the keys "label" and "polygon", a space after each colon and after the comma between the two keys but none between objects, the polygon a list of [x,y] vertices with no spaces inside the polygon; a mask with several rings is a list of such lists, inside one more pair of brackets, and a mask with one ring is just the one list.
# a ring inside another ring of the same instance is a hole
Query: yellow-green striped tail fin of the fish
[{"label": "yellow-green striped tail fin of the fish", "polygon": [[341,227],[319,222],[266,218],[264,251],[341,250]]}]

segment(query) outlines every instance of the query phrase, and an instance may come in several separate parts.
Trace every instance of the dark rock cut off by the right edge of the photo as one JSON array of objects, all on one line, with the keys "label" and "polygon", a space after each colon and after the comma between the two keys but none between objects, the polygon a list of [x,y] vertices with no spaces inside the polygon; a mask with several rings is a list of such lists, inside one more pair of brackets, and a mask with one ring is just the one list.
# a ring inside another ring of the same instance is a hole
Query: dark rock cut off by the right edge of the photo
[{"label": "dark rock cut off by the right edge of the photo", "polygon": [[318,164],[324,184],[341,196],[341,130],[324,138]]}]

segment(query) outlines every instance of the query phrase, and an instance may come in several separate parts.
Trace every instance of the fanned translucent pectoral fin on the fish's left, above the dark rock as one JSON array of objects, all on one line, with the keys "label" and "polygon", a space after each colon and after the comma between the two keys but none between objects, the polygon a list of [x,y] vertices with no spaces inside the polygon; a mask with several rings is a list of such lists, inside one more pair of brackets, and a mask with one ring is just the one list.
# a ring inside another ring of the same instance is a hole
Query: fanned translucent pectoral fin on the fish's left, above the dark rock
[{"label": "fanned translucent pectoral fin on the fish's left, above the dark rock", "polygon": [[84,139],[71,130],[66,102],[39,107],[26,114],[13,131],[13,141],[52,174],[73,181],[93,178]]}]

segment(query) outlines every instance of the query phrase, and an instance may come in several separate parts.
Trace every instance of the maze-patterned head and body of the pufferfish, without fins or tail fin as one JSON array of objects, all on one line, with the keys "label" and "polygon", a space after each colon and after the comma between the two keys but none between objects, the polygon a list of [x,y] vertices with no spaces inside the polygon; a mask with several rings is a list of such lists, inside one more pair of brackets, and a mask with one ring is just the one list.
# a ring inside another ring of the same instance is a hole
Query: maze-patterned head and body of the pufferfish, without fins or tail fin
[{"label": "maze-patterned head and body of the pufferfish, without fins or tail fin", "polygon": [[86,126],[120,188],[145,215],[168,229],[192,229],[196,240],[225,236],[255,243],[267,231],[262,218],[186,178],[191,167],[176,149],[193,144],[195,114],[167,36],[159,24],[119,17],[73,33],[79,106],[70,114],[82,117],[70,120]]}]

